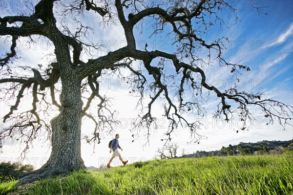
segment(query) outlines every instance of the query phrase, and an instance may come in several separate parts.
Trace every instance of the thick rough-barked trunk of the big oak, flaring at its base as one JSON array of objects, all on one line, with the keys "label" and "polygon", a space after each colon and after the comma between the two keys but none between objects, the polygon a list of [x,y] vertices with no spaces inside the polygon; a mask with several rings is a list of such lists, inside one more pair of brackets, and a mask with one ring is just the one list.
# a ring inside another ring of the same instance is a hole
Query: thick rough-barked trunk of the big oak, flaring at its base
[{"label": "thick rough-barked trunk of the big oak, flaring at its base", "polygon": [[85,169],[81,157],[82,99],[81,81],[73,75],[62,79],[60,114],[51,120],[52,152],[48,161],[18,185],[43,177]]}]

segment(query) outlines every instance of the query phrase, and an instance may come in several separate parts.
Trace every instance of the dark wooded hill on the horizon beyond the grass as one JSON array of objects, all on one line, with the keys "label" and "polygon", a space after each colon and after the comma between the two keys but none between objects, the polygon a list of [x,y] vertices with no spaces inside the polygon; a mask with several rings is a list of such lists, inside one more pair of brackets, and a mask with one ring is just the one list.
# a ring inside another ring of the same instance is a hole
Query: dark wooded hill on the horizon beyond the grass
[{"label": "dark wooded hill on the horizon beyond the grass", "polygon": [[278,154],[288,150],[293,150],[293,140],[288,141],[259,141],[256,143],[243,143],[222,147],[219,151],[196,151],[182,157],[196,158],[208,156],[230,156],[230,155],[250,155],[250,154]]}]

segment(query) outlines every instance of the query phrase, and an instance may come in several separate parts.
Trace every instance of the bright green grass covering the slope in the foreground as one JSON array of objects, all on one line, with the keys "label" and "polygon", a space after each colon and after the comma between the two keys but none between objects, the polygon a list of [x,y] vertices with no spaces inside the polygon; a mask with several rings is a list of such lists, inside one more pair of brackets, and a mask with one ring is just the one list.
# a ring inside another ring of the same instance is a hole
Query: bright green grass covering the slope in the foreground
[{"label": "bright green grass covering the slope in the foreground", "polygon": [[293,195],[293,152],[180,158],[79,171],[37,182],[33,195]]}]

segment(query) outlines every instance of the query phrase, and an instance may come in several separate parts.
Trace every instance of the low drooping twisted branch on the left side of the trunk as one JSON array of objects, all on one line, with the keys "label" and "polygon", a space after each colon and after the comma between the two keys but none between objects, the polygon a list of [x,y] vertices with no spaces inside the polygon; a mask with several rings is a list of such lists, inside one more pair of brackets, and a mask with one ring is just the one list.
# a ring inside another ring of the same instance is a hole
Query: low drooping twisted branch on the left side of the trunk
[{"label": "low drooping twisted branch on the left side of the trunk", "polygon": [[[51,98],[52,102],[55,106],[58,108],[61,108],[60,105],[58,105],[57,101],[55,100],[55,91],[54,91],[54,84],[58,82],[59,80],[59,71],[58,66],[55,66],[52,64],[53,69],[51,74],[49,75],[49,78],[47,80],[42,78],[41,73],[33,69],[34,77],[31,78],[3,78],[0,79],[0,84],[12,84],[13,92],[10,93],[9,91],[11,89],[7,89],[8,96],[10,94],[10,97],[13,98],[14,93],[18,91],[18,95],[16,96],[15,104],[10,107],[10,111],[3,117],[3,123],[5,124],[12,124],[9,127],[1,129],[1,135],[0,135],[0,144],[2,144],[3,140],[6,137],[15,138],[16,141],[19,141],[20,139],[25,142],[26,146],[22,152],[22,154],[25,155],[25,152],[29,149],[29,146],[32,144],[32,141],[36,139],[40,134],[42,130],[45,130],[48,136],[51,134],[51,127],[48,124],[47,121],[43,120],[40,116],[40,110],[38,110],[37,104],[41,104],[38,95],[42,95],[42,101],[45,101],[44,94],[38,92],[38,87],[40,86],[41,90],[44,90],[46,87],[51,88]],[[17,85],[15,85],[17,84]],[[19,87],[20,86],[20,87]],[[24,91],[27,89],[30,90],[30,87],[32,87],[32,109],[28,111],[23,112],[17,112],[21,99],[24,96]],[[5,96],[6,97],[6,96]],[[46,106],[44,108],[44,113],[47,112],[48,109],[51,109],[48,104],[46,103]],[[48,112],[47,112],[48,114]],[[42,130],[41,130],[42,129]]]}]

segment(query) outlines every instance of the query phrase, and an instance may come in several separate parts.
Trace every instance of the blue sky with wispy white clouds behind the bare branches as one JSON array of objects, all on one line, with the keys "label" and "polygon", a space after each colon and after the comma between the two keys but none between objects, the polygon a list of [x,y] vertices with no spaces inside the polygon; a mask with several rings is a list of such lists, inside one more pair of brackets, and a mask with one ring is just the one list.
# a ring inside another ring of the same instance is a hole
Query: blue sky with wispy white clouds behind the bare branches
[{"label": "blue sky with wispy white clouds behind the bare branches", "polygon": [[[11,9],[5,7],[6,4],[4,6],[3,2],[1,1],[1,17],[11,12],[15,13],[16,10],[11,11]],[[207,35],[201,38],[207,40],[207,42],[221,36],[229,38],[230,42],[226,43],[227,49],[224,50],[223,55],[229,62],[240,62],[240,64],[247,65],[251,68],[251,71],[244,71],[242,75],[237,75],[241,81],[236,83],[238,87],[247,91],[264,92],[268,98],[274,98],[275,100],[293,105],[293,1],[255,1],[256,5],[266,7],[262,11],[268,13],[267,15],[258,14],[255,9],[250,7],[247,1],[229,2],[231,4],[237,3],[236,6],[240,9],[237,24],[233,24],[234,21],[231,16],[224,12],[222,13],[222,17],[229,22],[230,29],[222,27],[222,30],[219,30],[219,27],[215,26]],[[108,25],[103,29],[99,27],[99,22],[93,12],[85,13],[85,23],[96,27],[94,29],[95,33],[88,35],[88,38],[92,42],[104,43],[105,50],[114,50],[124,45],[125,37],[121,34],[122,27],[120,25]],[[69,23],[68,25],[74,26],[75,24]],[[170,51],[174,49],[166,33],[149,38],[151,28],[149,23],[146,25],[146,30],[142,34],[139,33],[139,28],[135,32],[138,49],[143,50],[145,43],[148,43],[149,50],[160,49]],[[1,54],[9,48],[9,45],[6,45],[2,38],[0,46]],[[52,46],[48,47],[48,50],[52,51]],[[32,53],[34,55],[31,55]],[[40,64],[40,62],[46,63],[45,59],[40,58],[44,53],[45,50],[41,51],[37,46],[36,49],[23,51],[19,55],[34,66]],[[97,51],[97,54],[103,55],[104,52]],[[86,59],[87,57],[84,56],[83,58]],[[18,63],[22,65],[26,64],[22,61],[18,61]],[[139,66],[139,64],[136,65]],[[174,70],[170,69],[168,71]],[[125,73],[127,74],[127,72]],[[206,75],[210,84],[220,87],[223,90],[235,83],[235,76],[230,73],[230,68],[219,68],[216,64],[206,67]],[[130,162],[151,159],[154,157],[156,149],[163,144],[160,139],[162,138],[163,132],[166,131],[167,125],[167,121],[161,116],[160,102],[154,105],[153,110],[155,115],[157,114],[161,120],[161,127],[151,135],[149,145],[147,144],[143,147],[146,139],[142,132],[141,136],[132,143],[132,133],[129,132],[129,129],[131,128],[131,120],[137,115],[137,112],[134,110],[137,99],[128,96],[128,90],[122,87],[123,83],[121,82],[106,78],[102,86],[102,91],[106,95],[114,98],[112,107],[119,111],[117,118],[124,122],[123,125],[117,126],[116,132],[114,132],[114,134],[120,133],[120,145],[124,149],[122,156],[131,159]],[[203,120],[205,125],[200,130],[200,133],[206,135],[208,139],[201,140],[200,144],[187,144],[189,141],[189,132],[186,129],[180,128],[176,131],[173,140],[173,142],[178,143],[180,150],[186,149],[187,152],[192,153],[200,150],[219,150],[222,146],[238,144],[239,142],[293,139],[292,127],[288,126],[288,129],[283,131],[276,123],[266,126],[266,122],[261,118],[251,125],[249,131],[236,133],[229,124],[223,124],[211,119],[211,113],[214,111],[216,104],[215,96],[212,96],[205,103],[205,108],[208,108],[207,118],[193,116],[192,118],[190,116],[191,120]],[[0,106],[0,115],[2,117],[8,107],[3,102],[1,102]],[[256,109],[255,113],[258,114],[258,112],[259,110]],[[85,120],[82,133],[90,134],[93,129],[92,127],[93,124]],[[92,145],[83,144],[82,156],[86,166],[93,165],[99,167],[101,164],[105,164],[108,157],[110,157],[107,148],[107,143],[110,139],[111,135],[105,133],[102,143],[96,146],[95,153],[93,153]],[[5,161],[10,159],[15,161],[22,151],[21,147],[18,144],[12,146],[7,142],[3,147],[3,152],[0,153],[0,160]],[[49,153],[50,148],[48,143],[43,144],[42,141],[36,142],[34,148],[28,153],[26,161],[27,163],[34,164],[36,167],[40,167],[49,156]]]}]

